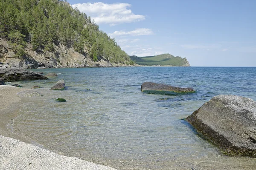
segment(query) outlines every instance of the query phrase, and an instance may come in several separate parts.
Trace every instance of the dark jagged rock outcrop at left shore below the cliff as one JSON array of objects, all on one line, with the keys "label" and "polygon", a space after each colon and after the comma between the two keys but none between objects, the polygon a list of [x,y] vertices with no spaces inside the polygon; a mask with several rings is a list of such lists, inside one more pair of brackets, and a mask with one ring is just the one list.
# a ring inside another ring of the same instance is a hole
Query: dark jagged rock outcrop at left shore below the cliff
[{"label": "dark jagged rock outcrop at left shore below the cliff", "polygon": [[25,69],[0,68],[0,78],[6,82],[22,80],[46,80],[47,77]]}]

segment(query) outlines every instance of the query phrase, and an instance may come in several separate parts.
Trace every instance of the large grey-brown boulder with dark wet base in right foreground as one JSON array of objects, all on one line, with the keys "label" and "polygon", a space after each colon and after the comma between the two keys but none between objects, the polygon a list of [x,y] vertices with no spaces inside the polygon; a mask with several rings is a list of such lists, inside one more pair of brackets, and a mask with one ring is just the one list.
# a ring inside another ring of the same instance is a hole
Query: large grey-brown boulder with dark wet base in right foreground
[{"label": "large grey-brown boulder with dark wet base in right foreground", "polygon": [[224,154],[256,157],[256,101],[218,95],[186,120]]}]

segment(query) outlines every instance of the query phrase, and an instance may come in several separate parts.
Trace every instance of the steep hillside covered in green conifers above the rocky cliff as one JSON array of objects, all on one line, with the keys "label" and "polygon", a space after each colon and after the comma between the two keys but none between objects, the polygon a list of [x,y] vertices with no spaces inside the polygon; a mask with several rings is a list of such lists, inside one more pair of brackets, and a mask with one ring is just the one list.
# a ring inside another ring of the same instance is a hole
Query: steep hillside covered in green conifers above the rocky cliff
[{"label": "steep hillside covered in green conifers above the rocky cliff", "polygon": [[26,48],[55,53],[55,46],[61,44],[92,61],[103,57],[111,63],[133,64],[90,16],[64,1],[0,0],[0,38],[8,40],[20,59],[27,58]]}]

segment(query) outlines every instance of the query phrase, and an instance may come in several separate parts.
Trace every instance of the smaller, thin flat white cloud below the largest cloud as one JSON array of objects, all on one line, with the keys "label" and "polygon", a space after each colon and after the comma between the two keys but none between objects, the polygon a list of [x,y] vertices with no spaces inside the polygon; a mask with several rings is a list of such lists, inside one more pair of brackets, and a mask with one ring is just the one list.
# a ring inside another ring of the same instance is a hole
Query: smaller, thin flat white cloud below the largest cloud
[{"label": "smaller, thin flat white cloud below the largest cloud", "polygon": [[153,31],[151,29],[135,29],[133,31],[115,31],[112,34],[108,34],[111,37],[117,37],[117,36],[124,36],[124,35],[132,35],[132,36],[138,36],[138,35],[152,35]]}]

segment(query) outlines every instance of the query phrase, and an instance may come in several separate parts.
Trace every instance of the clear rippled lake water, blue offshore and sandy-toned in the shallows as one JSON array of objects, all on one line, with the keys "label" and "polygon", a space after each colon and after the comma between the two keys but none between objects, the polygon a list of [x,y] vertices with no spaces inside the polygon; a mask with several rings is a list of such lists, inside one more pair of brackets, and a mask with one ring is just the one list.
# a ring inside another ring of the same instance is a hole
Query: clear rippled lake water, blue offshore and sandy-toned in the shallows
[{"label": "clear rippled lake water, blue offshore and sandy-toned in the shallows", "polygon": [[[129,67],[35,70],[58,78],[15,82],[39,89],[23,98],[12,128],[48,150],[117,169],[255,169],[256,158],[227,157],[199,137],[182,118],[219,94],[256,100],[255,67]],[[196,92],[145,94],[145,81]],[[56,102],[65,98],[67,102]]]}]

